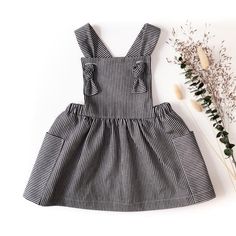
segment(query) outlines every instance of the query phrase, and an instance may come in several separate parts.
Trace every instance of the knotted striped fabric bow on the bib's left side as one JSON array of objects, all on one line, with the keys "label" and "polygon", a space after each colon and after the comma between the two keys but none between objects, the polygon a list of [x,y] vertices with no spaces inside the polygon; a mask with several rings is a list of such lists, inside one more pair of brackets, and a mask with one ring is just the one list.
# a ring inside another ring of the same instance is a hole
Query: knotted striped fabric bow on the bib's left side
[{"label": "knotted striped fabric bow on the bib's left side", "polygon": [[83,75],[85,79],[84,94],[92,96],[98,93],[97,85],[94,82],[95,65],[87,63],[84,65]]}]

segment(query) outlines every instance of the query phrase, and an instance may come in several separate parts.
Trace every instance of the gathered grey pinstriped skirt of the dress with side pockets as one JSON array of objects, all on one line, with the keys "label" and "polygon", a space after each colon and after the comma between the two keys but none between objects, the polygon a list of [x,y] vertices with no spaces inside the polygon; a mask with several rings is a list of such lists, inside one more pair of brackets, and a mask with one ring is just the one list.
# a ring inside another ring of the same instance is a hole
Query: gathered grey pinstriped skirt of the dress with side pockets
[{"label": "gathered grey pinstriped skirt of the dress with side pockets", "polygon": [[70,103],[45,133],[24,198],[41,206],[143,211],[215,198],[195,134],[168,102],[145,119]]}]

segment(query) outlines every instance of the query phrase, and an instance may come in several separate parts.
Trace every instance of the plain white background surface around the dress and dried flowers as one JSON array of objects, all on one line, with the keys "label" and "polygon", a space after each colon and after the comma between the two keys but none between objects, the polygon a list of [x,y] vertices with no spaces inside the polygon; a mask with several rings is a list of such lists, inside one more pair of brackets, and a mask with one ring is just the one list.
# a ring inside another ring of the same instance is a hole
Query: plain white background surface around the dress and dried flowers
[{"label": "plain white background surface around the dress and dried flowers", "polygon": [[[205,235],[235,232],[236,192],[207,145],[216,146],[208,120],[171,90],[182,81],[166,62],[171,27],[211,23],[226,40],[236,73],[236,16],[233,1],[1,1],[1,235]],[[216,191],[216,199],[183,208],[109,212],[41,207],[23,197],[44,133],[70,102],[83,103],[82,53],[74,30],[89,22],[113,56],[124,56],[144,23],[162,29],[153,53],[153,104],[169,101],[195,131]],[[188,96],[188,95],[187,95]],[[189,106],[187,109],[186,106]],[[198,121],[196,126],[189,109]],[[236,143],[236,128],[229,127]]]}]

